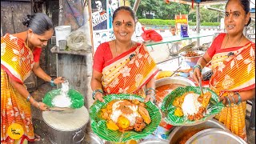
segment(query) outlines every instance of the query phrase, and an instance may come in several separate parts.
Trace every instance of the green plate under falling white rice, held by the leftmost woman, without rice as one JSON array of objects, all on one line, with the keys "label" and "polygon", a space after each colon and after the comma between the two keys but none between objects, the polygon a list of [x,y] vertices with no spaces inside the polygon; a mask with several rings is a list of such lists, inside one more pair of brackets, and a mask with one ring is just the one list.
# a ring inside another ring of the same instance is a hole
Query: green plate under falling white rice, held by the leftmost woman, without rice
[{"label": "green plate under falling white rice, held by the leftmost woman, without rice", "polygon": [[[50,107],[53,107],[54,105],[52,104],[52,101],[54,97],[59,95],[60,93],[61,89],[51,90],[46,93],[45,97],[42,99],[42,102]],[[71,98],[72,102],[70,108],[78,109],[84,106],[84,97],[77,90],[70,89],[67,95]]]}]

